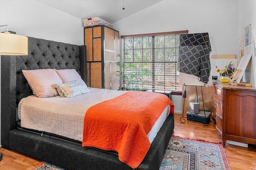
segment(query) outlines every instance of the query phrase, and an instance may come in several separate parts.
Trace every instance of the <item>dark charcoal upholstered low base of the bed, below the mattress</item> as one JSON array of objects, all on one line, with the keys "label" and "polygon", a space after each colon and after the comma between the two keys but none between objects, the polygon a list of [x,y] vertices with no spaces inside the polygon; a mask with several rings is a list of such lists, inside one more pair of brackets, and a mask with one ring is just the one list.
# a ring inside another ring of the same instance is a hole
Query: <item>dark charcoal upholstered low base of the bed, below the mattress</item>
[{"label": "dark charcoal upholstered low base of the bed, below the mattress", "polygon": [[[174,115],[166,118],[137,170],[158,170],[174,130]],[[132,170],[118,156],[82,147],[58,139],[42,137],[14,129],[10,131],[10,149],[68,170]]]}]

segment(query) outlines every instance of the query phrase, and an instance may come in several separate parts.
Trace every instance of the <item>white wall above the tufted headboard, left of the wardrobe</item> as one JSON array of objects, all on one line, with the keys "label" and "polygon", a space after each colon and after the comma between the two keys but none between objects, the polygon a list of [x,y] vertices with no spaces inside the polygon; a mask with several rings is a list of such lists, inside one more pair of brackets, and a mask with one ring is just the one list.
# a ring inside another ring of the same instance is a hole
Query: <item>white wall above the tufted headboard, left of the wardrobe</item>
[{"label": "white wall above the tufted headboard, left of the wardrobe", "polygon": [[[81,19],[35,0],[0,0],[0,25],[8,25],[9,31],[19,35],[84,45]],[[6,31],[6,27],[0,31]]]}]

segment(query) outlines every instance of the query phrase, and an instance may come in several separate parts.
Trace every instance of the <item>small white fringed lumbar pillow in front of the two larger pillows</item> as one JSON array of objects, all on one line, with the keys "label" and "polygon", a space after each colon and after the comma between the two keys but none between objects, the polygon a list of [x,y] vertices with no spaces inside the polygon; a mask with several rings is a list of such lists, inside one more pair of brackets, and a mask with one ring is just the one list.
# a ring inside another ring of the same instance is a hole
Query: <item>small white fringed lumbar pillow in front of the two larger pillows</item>
[{"label": "small white fringed lumbar pillow in front of the two larger pillows", "polygon": [[90,92],[86,84],[59,85],[58,88],[58,91],[61,91],[67,98],[72,98],[74,96]]}]

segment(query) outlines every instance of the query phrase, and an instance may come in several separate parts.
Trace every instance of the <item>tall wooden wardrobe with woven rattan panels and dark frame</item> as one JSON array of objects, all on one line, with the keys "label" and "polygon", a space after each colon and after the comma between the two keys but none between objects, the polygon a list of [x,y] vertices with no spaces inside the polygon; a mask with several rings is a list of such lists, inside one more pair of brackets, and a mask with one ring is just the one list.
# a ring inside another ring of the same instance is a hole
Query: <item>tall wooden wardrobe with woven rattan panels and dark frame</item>
[{"label": "tall wooden wardrobe with woven rattan panels and dark frame", "polygon": [[87,51],[87,85],[93,88],[119,89],[119,31],[104,25],[84,28]]}]

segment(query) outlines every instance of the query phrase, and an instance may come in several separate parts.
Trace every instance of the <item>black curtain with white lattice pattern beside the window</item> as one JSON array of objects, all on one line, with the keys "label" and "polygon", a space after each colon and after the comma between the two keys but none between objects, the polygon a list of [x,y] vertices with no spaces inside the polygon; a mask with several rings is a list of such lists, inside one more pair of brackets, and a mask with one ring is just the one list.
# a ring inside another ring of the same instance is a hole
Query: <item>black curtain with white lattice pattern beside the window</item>
[{"label": "black curtain with white lattice pattern beside the window", "polygon": [[[196,76],[196,79],[207,84],[211,71],[208,33],[184,34],[180,35],[179,40],[178,71]],[[193,82],[190,85],[193,85]]]}]

